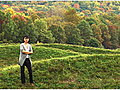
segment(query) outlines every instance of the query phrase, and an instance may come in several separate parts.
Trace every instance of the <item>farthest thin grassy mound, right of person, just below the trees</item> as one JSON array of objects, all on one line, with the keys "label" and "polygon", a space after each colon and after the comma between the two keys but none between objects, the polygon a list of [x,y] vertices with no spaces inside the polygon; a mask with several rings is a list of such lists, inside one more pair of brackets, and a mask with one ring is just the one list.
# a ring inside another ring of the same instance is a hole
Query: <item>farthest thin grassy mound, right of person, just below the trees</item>
[{"label": "farthest thin grassy mound, right of person, just below the trees", "polygon": [[71,50],[71,51],[80,52],[83,54],[120,54],[120,51],[117,51],[117,50],[115,51],[115,50],[110,50],[110,49],[85,47],[85,46],[79,46],[79,45],[40,44],[36,46],[45,46],[45,47],[59,48],[63,50]]}]

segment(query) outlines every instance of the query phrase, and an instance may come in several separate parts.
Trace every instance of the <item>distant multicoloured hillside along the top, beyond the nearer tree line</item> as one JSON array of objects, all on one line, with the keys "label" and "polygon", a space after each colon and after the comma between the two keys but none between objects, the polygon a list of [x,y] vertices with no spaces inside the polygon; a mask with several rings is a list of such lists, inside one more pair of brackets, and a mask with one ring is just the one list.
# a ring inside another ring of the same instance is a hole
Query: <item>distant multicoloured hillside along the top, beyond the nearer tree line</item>
[{"label": "distant multicoloured hillside along the top, beyond the nearer tree line", "polygon": [[[13,8],[17,12],[24,12],[26,15],[27,9],[30,7],[37,13],[39,11],[52,11],[59,8],[60,5],[67,9],[68,6],[73,7],[77,10],[79,15],[90,16],[92,14],[109,13],[113,12],[117,15],[120,13],[120,1],[0,1],[1,10],[6,8]],[[52,13],[55,13],[52,11]],[[41,15],[41,17],[44,17]]]}]

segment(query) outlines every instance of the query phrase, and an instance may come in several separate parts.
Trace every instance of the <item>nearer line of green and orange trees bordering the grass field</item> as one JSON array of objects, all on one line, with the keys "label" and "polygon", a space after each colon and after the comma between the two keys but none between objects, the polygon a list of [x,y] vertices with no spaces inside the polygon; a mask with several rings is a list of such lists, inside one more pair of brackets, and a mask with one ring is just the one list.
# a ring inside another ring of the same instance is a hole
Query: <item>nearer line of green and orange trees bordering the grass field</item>
[{"label": "nearer line of green and orange trees bordering the grass field", "polygon": [[66,43],[106,49],[120,45],[120,17],[114,13],[80,17],[75,8],[68,7],[60,18],[40,18],[31,10],[29,17],[11,12],[0,10],[0,43],[20,43],[24,35],[29,35],[31,43]]}]

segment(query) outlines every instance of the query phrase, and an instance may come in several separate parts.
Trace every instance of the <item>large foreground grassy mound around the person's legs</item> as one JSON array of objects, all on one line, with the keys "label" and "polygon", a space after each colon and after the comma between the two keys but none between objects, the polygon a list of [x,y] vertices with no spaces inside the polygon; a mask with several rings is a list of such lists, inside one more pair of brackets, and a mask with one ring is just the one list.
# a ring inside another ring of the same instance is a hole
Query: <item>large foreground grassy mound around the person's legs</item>
[{"label": "large foreground grassy mound around the person's legs", "polygon": [[[0,88],[120,88],[120,55],[95,55],[69,57],[33,62],[35,87],[21,85],[19,66],[11,66],[0,72]],[[28,71],[26,82],[29,83]]]}]

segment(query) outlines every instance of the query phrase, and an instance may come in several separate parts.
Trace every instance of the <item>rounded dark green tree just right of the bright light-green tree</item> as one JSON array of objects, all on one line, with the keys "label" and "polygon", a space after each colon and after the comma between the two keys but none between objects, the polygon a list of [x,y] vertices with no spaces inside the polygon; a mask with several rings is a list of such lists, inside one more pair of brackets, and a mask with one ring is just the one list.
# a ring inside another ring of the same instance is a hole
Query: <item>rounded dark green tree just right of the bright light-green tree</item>
[{"label": "rounded dark green tree just right of the bright light-green tree", "polygon": [[61,26],[53,24],[48,28],[48,30],[50,30],[53,34],[53,37],[55,37],[55,43],[66,42],[65,30]]}]

